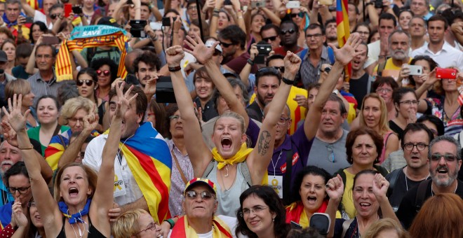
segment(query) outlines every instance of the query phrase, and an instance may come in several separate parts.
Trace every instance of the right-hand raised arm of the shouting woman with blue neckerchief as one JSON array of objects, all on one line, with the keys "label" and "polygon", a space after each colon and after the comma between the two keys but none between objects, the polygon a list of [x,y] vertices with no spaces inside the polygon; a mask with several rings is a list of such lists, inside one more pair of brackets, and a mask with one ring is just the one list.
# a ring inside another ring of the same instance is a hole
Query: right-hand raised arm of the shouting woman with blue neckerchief
[{"label": "right-hand raised arm of the shouting woman with blue neckerchief", "polygon": [[[109,237],[111,226],[107,216],[109,209],[112,209],[112,202],[108,202],[108,197],[112,198],[114,191],[114,158],[116,158],[119,148],[119,141],[121,140],[121,127],[123,116],[130,108],[130,102],[135,101],[138,94],[130,97],[130,91],[133,85],[127,90],[125,94],[122,93],[123,86],[116,86],[117,102],[116,111],[112,118],[111,130],[109,130],[108,138],[102,152],[102,163],[100,171],[98,172],[97,187],[93,201],[90,205],[90,215],[95,214],[98,217],[97,221],[93,221],[98,230],[103,232],[103,235]],[[93,216],[95,217],[95,216]],[[107,231],[107,234],[104,234]]]}]

